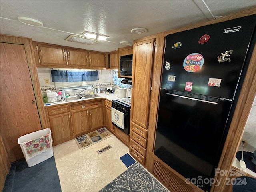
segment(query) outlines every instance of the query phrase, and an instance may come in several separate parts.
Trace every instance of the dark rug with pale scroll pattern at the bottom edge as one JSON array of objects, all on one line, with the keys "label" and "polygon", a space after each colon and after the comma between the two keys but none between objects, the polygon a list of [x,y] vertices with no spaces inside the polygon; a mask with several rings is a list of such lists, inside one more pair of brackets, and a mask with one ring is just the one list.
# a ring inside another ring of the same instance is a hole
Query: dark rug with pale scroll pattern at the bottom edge
[{"label": "dark rug with pale scroll pattern at the bottom edge", "polygon": [[168,192],[168,190],[138,162],[135,162],[99,192]]}]

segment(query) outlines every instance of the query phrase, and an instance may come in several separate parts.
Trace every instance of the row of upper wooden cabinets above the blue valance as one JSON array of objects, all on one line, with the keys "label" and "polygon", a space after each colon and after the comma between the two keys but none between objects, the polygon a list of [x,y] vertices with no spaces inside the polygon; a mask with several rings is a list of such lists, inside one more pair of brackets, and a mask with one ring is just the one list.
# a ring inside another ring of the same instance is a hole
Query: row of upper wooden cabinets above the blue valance
[{"label": "row of upper wooden cabinets above the blue valance", "polygon": [[105,69],[106,53],[32,42],[37,67]]}]

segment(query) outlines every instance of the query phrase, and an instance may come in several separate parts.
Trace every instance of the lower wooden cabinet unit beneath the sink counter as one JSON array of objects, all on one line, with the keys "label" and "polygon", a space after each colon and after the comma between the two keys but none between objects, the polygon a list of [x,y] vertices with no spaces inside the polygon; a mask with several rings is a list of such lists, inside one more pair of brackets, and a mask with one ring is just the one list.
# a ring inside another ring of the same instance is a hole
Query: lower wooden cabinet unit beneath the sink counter
[{"label": "lower wooden cabinet unit beneath the sink counter", "polygon": [[46,108],[54,145],[104,127],[101,100]]}]

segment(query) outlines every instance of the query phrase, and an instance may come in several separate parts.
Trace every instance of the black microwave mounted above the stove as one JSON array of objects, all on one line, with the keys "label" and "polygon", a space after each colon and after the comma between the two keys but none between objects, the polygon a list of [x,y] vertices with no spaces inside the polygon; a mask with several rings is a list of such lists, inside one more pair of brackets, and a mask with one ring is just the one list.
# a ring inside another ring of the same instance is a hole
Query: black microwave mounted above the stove
[{"label": "black microwave mounted above the stove", "polygon": [[132,76],[132,55],[120,57],[120,75]]}]

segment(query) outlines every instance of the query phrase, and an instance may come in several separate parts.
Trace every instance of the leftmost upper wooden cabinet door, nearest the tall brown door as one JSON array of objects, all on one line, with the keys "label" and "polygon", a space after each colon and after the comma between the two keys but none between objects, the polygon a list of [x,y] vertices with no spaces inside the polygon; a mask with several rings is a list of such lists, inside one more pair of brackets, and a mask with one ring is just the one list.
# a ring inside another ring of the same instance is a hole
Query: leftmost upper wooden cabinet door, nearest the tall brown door
[{"label": "leftmost upper wooden cabinet door, nearest the tall brown door", "polygon": [[37,44],[40,66],[66,67],[66,53],[62,46]]}]

